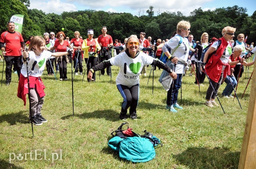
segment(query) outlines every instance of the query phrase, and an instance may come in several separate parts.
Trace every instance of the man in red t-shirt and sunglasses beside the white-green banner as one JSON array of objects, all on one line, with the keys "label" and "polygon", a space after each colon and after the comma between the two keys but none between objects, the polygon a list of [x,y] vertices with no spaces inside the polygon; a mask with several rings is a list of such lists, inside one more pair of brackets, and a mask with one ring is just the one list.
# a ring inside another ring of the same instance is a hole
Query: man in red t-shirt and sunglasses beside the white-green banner
[{"label": "man in red t-shirt and sunglasses beside the white-green banner", "polygon": [[[7,23],[8,31],[1,34],[0,46],[3,51],[6,68],[5,68],[5,84],[10,85],[12,81],[12,63],[14,62],[14,67],[17,69],[17,74],[20,80],[20,70],[21,70],[21,43],[25,46],[24,40],[19,32],[14,31],[15,24],[12,21]],[[5,47],[4,47],[5,44]]]}]

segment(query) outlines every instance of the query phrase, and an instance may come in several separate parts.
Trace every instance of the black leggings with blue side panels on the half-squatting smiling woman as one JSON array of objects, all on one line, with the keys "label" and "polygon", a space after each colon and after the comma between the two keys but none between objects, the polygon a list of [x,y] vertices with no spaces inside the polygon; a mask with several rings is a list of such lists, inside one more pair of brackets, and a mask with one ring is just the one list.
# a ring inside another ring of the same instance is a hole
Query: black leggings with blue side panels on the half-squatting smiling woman
[{"label": "black leggings with blue side panels on the half-squatting smiling woman", "polygon": [[120,94],[124,98],[122,103],[121,112],[127,113],[127,109],[130,107],[129,113],[130,115],[135,112],[138,106],[139,95],[140,95],[140,85],[136,84],[132,87],[128,87],[125,85],[116,85],[117,89],[119,90]]}]

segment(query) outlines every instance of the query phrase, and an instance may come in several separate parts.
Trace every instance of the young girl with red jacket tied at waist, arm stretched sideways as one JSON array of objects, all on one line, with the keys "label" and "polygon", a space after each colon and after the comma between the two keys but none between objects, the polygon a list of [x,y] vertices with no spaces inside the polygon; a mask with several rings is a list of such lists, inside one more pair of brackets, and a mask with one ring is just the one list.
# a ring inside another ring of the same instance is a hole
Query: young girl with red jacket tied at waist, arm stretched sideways
[{"label": "young girl with red jacket tied at waist, arm stretched sideways", "polygon": [[[28,93],[28,79],[27,79],[27,64],[26,58],[28,58],[28,74],[29,74],[29,92],[31,101],[31,114],[32,122],[35,125],[42,125],[47,122],[47,120],[41,115],[41,109],[44,103],[44,83],[41,79],[41,75],[44,72],[44,67],[46,60],[51,56],[60,57],[63,55],[68,55],[71,52],[56,52],[51,53],[45,50],[45,40],[40,36],[35,36],[30,41],[28,48],[29,52],[23,52],[23,61],[20,81],[18,86],[18,97],[24,101],[24,106],[26,105],[26,94]],[[29,115],[29,120],[31,122],[31,117]]]}]

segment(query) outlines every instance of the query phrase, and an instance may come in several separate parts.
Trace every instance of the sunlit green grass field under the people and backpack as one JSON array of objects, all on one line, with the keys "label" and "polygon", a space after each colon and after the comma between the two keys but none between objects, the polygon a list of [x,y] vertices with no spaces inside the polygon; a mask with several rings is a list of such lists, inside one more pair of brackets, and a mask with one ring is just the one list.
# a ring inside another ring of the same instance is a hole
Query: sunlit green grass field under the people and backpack
[{"label": "sunlit green grass field under the people and backpack", "polygon": [[[85,64],[84,64],[85,65]],[[2,75],[3,62],[0,62]],[[156,158],[147,163],[131,163],[119,158],[108,147],[110,133],[122,121],[118,116],[122,97],[115,84],[118,67],[112,67],[110,77],[97,72],[96,83],[82,82],[83,76],[74,78],[74,116],[72,112],[71,64],[68,65],[68,81],[47,76],[42,115],[48,120],[42,126],[28,123],[29,104],[24,108],[17,97],[18,76],[12,74],[10,86],[0,89],[0,168],[237,168],[243,141],[250,84],[245,96],[237,100],[220,97],[226,112],[220,107],[204,105],[208,80],[204,86],[194,84],[195,75],[183,78],[183,110],[171,113],[165,110],[167,92],[158,82],[162,71],[140,79],[138,120],[128,119],[129,127],[139,134],[148,130],[160,138],[163,147],[156,148]],[[249,76],[252,73],[250,68]],[[239,80],[237,94],[241,98],[248,82],[247,73]],[[148,85],[147,85],[148,82]],[[219,95],[226,84],[221,85]],[[218,103],[217,99],[216,102]]]}]

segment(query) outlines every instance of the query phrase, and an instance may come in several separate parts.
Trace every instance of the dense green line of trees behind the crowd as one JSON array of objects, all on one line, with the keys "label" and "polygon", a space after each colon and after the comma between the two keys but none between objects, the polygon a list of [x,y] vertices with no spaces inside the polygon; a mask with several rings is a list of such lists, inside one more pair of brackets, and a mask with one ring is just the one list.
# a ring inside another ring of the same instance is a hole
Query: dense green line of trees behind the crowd
[{"label": "dense green line of trees behind the crowd", "polygon": [[59,32],[64,28],[64,33],[70,38],[74,37],[74,32],[79,31],[83,39],[87,38],[87,29],[94,30],[94,38],[101,32],[102,26],[106,26],[108,34],[113,39],[122,42],[132,34],[139,35],[146,32],[146,37],[151,36],[152,40],[170,39],[172,33],[176,31],[176,25],[180,20],[189,21],[191,24],[191,34],[195,40],[199,40],[203,32],[212,37],[220,38],[221,30],[225,26],[236,28],[236,35],[244,33],[248,35],[247,43],[256,42],[256,11],[252,16],[246,14],[247,9],[237,5],[227,8],[217,8],[213,11],[203,11],[201,8],[190,12],[189,16],[184,16],[180,11],[162,13],[157,12],[154,16],[153,6],[138,16],[131,13],[115,13],[95,10],[84,11],[64,11],[61,15],[55,13],[46,14],[42,10],[28,9],[29,0],[1,0],[0,3],[0,33],[6,31],[6,24],[12,15],[24,15],[22,35],[28,39],[30,35],[43,36],[44,32]]}]

